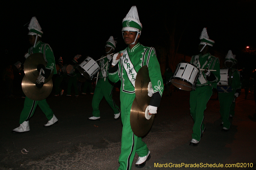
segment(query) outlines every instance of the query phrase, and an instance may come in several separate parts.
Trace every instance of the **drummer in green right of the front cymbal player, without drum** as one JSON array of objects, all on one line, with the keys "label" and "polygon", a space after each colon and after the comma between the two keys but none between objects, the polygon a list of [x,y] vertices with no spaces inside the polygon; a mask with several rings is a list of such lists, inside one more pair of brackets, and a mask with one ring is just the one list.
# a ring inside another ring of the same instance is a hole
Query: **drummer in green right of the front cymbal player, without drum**
[{"label": "drummer in green right of the front cymbal player, without drum", "polygon": [[192,56],[190,61],[190,63],[196,65],[199,69],[205,69],[199,72],[196,90],[190,92],[190,114],[194,121],[192,140],[189,143],[191,146],[197,146],[201,139],[201,135],[205,130],[204,110],[206,109],[208,100],[212,96],[212,88],[216,88],[217,83],[220,81],[219,58],[210,54],[210,49],[214,41],[209,39],[206,28],[203,29],[200,40],[198,49],[201,54]]}]

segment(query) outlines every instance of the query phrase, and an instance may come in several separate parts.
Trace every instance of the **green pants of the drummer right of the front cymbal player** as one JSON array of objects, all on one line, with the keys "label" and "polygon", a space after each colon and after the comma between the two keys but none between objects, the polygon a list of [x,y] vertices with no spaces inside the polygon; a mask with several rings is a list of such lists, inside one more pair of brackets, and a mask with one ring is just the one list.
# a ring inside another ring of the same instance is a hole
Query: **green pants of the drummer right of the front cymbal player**
[{"label": "green pants of the drummer right of the front cymbal player", "polygon": [[192,138],[200,141],[204,126],[204,110],[206,104],[212,96],[213,86],[196,87],[195,91],[190,92],[190,114],[194,121]]}]

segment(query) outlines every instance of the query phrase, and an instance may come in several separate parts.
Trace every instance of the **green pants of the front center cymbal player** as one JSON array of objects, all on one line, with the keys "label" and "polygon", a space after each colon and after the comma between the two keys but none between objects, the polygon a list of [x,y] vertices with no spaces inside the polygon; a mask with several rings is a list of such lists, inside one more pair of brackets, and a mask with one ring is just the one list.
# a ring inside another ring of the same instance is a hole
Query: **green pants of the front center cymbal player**
[{"label": "green pants of the front center cymbal player", "polygon": [[146,156],[148,154],[147,145],[142,142],[141,137],[135,136],[131,129],[130,112],[134,98],[135,94],[120,92],[123,130],[121,154],[118,159],[120,166],[118,170],[129,170],[132,168],[132,161],[134,159],[135,152],[140,157]]}]

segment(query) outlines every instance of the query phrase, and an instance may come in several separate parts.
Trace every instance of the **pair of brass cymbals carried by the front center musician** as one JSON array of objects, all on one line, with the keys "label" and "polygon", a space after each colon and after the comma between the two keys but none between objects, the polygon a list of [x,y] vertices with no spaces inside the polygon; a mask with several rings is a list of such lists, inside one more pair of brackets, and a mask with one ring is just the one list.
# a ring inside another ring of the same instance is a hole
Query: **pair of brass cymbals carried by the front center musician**
[{"label": "pair of brass cymbals carried by the front center musician", "polygon": [[148,67],[143,66],[137,73],[135,80],[135,99],[132,103],[130,122],[133,133],[142,137],[146,135],[151,128],[155,115],[153,114],[149,119],[146,118],[146,111],[151,97],[148,96],[148,84],[150,82]]}]

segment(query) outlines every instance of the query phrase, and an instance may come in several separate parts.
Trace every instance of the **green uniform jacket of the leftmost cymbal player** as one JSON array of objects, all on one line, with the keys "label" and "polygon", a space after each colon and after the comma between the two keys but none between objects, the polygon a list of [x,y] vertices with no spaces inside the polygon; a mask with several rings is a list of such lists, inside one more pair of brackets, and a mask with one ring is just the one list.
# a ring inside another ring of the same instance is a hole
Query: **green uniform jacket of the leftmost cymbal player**
[{"label": "green uniform jacket of the leftmost cymbal player", "polygon": [[49,44],[46,44],[42,41],[38,41],[36,43],[35,48],[32,46],[28,49],[29,55],[34,53],[42,53],[44,55],[44,61],[46,62],[44,71],[45,71],[45,75],[47,75],[45,78],[48,78],[48,76],[51,74],[52,71],[54,71],[53,74],[57,74],[57,70],[55,67],[55,58],[53,55],[52,48],[49,46]]}]

